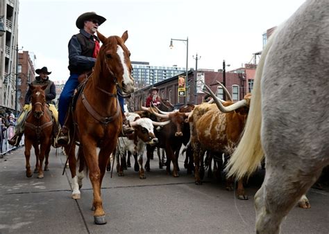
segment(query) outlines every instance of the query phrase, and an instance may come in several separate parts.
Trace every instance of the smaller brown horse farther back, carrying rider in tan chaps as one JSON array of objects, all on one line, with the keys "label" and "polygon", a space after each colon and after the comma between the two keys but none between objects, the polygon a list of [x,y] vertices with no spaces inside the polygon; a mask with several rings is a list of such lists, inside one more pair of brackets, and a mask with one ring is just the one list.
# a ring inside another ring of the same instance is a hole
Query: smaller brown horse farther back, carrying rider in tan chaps
[{"label": "smaller brown horse farther back, carrying rider in tan chaps", "polygon": [[32,91],[32,111],[28,114],[25,120],[24,153],[26,159],[26,177],[32,177],[30,156],[33,145],[36,157],[34,172],[37,172],[37,178],[41,179],[44,177],[44,171],[42,170],[44,157],[46,158],[44,170],[49,170],[48,158],[51,147],[51,138],[53,136],[53,120],[44,95],[44,89],[47,88],[47,85],[42,87],[33,86],[31,84],[28,85]]}]

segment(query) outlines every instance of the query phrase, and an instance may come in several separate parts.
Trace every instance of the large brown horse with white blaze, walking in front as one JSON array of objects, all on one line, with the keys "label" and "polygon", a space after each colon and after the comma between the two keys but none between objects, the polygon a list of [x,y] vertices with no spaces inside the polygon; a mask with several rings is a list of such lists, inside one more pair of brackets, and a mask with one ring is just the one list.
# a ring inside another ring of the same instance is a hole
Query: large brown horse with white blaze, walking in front
[{"label": "large brown horse with white blaze, walking in front", "polygon": [[[122,127],[121,108],[117,100],[117,85],[124,93],[133,93],[130,52],[124,44],[127,31],[121,36],[106,38],[97,32],[102,42],[96,58],[94,71],[85,83],[73,111],[74,131],[70,132],[71,143],[65,147],[69,155],[69,169],[72,177],[72,198],[80,199],[83,170],[89,170],[94,190],[94,222],[106,224],[101,199],[101,183],[106,172],[110,154],[115,150]],[[80,167],[76,173],[75,141],[80,142],[78,159]],[[99,155],[96,147],[100,148]]]}]

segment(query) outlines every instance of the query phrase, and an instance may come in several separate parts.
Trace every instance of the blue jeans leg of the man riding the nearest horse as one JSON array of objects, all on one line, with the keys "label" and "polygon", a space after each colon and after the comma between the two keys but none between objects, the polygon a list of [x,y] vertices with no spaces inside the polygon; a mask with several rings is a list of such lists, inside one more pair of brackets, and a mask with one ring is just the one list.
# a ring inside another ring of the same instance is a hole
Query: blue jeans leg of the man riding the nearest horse
[{"label": "blue jeans leg of the man riding the nearest horse", "polygon": [[79,74],[71,74],[69,80],[65,83],[62,93],[60,93],[60,99],[58,100],[58,121],[61,126],[65,123],[65,116],[67,109],[69,109],[69,102],[73,96],[74,89],[78,87],[78,76]]}]

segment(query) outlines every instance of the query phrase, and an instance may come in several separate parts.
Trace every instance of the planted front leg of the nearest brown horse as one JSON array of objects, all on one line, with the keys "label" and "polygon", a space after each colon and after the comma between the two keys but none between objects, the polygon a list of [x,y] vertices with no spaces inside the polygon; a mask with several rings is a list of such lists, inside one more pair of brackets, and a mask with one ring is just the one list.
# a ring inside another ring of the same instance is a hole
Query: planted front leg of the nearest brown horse
[{"label": "planted front leg of the nearest brown horse", "polygon": [[[96,143],[88,135],[81,137],[81,143],[83,144],[83,155],[85,156],[85,162],[89,168],[89,178],[92,183],[92,190],[94,199],[92,206],[94,210],[94,222],[95,224],[106,224],[105,212],[103,210],[102,199],[101,199],[101,179],[102,174],[105,174],[106,163],[108,162],[109,154],[114,150],[115,144],[112,144],[112,148],[104,151],[101,149],[99,156],[96,152]],[[107,155],[107,157],[106,157]],[[101,165],[101,168],[99,168]],[[101,171],[102,169],[102,171]]]}]

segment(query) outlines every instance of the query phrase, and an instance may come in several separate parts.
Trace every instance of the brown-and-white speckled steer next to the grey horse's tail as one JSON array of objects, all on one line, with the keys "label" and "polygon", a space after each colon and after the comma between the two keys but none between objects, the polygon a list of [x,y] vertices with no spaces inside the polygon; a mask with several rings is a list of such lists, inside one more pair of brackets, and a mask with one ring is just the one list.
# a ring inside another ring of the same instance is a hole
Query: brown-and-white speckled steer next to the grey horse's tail
[{"label": "brown-and-white speckled steer next to the grey horse's tail", "polygon": [[[220,111],[216,104],[203,103],[196,106],[189,115],[189,122],[192,123],[190,141],[194,152],[196,184],[201,184],[199,170],[203,173],[205,151],[233,154],[246,123],[250,99],[251,94],[248,93],[244,96],[243,105],[241,103],[238,107],[232,101],[223,102],[224,106],[237,107],[227,113]],[[238,181],[237,197],[248,199],[244,195],[242,179]]]}]

